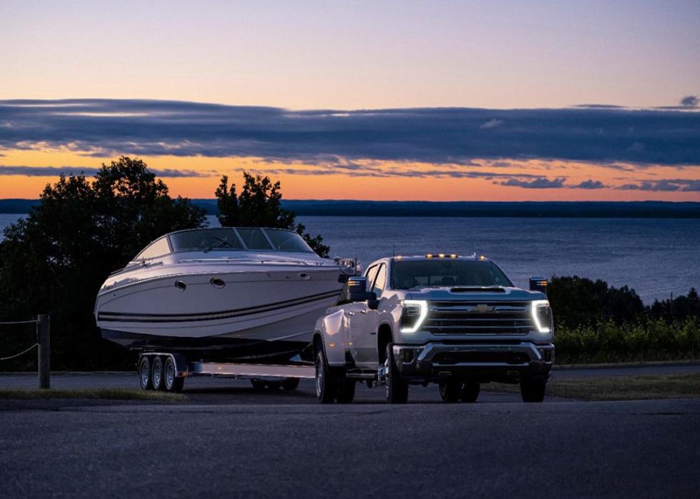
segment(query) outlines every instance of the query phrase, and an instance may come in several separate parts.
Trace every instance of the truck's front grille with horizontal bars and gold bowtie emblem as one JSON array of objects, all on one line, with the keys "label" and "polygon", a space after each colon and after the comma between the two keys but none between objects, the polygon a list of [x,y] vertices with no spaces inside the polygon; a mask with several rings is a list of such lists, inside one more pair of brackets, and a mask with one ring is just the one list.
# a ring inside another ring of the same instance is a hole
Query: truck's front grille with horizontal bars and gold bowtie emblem
[{"label": "truck's front grille with horizontal bars and gold bowtie emblem", "polygon": [[433,334],[527,334],[529,302],[431,302],[423,329]]}]

